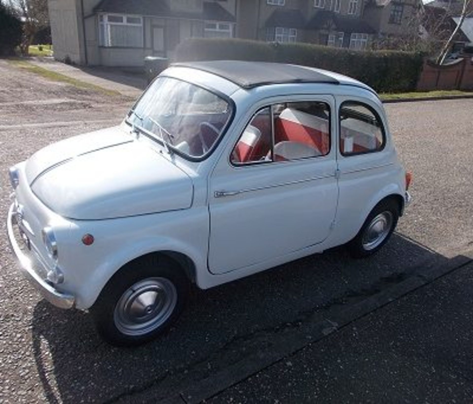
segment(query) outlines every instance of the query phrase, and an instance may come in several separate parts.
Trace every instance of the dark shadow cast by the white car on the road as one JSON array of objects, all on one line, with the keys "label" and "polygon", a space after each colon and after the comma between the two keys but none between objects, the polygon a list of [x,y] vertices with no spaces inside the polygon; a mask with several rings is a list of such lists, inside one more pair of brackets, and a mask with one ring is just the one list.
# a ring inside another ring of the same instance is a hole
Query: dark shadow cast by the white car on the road
[{"label": "dark shadow cast by the white car on the road", "polygon": [[272,349],[278,333],[297,332],[314,314],[346,310],[426,269],[447,271],[459,261],[399,234],[364,260],[336,248],[207,291],[194,289],[175,326],[135,349],[103,342],[89,314],[42,300],[32,327],[38,374],[50,402],[126,399],[149,388],[165,397],[188,375],[195,377],[196,368],[204,378],[257,358]]}]

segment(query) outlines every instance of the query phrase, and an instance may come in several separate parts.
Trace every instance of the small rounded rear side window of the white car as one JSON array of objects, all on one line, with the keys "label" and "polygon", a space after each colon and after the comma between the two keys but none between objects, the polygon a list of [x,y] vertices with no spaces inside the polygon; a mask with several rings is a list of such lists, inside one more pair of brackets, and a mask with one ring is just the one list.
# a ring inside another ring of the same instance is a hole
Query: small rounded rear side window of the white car
[{"label": "small rounded rear side window of the white car", "polygon": [[340,107],[340,153],[350,156],[382,150],[385,145],[383,123],[376,111],[357,101]]}]

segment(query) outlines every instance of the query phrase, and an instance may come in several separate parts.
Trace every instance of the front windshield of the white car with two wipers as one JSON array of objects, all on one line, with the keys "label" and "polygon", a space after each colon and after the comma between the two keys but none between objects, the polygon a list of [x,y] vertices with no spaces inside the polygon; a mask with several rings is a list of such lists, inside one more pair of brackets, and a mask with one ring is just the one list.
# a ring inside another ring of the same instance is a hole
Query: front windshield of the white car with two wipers
[{"label": "front windshield of the white car with two wipers", "polygon": [[202,158],[217,143],[231,117],[228,102],[194,84],[159,77],[127,117],[128,124],[184,157]]}]

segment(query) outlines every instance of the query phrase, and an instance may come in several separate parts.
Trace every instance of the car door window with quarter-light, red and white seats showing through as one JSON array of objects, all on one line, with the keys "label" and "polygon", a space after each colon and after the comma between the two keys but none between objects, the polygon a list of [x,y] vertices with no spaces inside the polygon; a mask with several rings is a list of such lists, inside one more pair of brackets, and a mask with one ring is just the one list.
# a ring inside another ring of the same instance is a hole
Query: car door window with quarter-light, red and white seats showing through
[{"label": "car door window with quarter-light, red and white seats showing through", "polygon": [[236,165],[298,160],[330,152],[330,107],[325,102],[274,104],[258,111],[232,154]]}]

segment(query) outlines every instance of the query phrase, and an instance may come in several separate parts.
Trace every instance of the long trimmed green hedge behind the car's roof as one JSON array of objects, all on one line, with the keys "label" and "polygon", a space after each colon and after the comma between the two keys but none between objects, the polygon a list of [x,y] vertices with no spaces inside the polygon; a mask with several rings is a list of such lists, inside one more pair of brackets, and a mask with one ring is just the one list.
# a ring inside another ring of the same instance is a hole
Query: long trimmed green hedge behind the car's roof
[{"label": "long trimmed green hedge behind the car's roof", "polygon": [[352,51],[302,43],[274,44],[242,39],[193,38],[177,47],[175,60],[294,63],[346,74],[378,92],[400,92],[415,90],[423,56],[413,52]]}]

